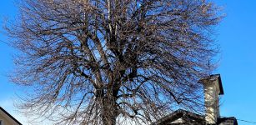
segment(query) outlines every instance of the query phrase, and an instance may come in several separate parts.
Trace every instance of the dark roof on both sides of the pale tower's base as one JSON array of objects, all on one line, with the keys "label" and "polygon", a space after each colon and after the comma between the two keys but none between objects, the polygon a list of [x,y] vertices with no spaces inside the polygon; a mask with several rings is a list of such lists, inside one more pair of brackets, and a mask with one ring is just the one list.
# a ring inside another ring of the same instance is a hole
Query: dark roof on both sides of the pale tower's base
[{"label": "dark roof on both sides of the pale tower's base", "polygon": [[[190,120],[185,120],[185,123],[172,123],[181,117],[185,117]],[[181,125],[181,124],[205,125],[204,116],[194,112],[188,112],[183,109],[178,109],[177,111],[172,112],[167,116],[159,119],[157,122],[153,123],[153,125]],[[238,125],[238,122],[235,117],[220,117],[218,118],[217,125]]]}]

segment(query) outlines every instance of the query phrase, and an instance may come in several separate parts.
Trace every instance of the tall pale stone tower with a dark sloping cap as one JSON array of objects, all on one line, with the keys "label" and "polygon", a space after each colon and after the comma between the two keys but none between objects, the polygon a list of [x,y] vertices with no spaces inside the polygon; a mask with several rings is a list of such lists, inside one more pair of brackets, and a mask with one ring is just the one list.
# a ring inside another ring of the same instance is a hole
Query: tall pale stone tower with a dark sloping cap
[{"label": "tall pale stone tower with a dark sloping cap", "polygon": [[223,87],[219,74],[210,75],[200,80],[203,83],[205,121],[216,124],[219,116],[218,96],[223,95]]}]

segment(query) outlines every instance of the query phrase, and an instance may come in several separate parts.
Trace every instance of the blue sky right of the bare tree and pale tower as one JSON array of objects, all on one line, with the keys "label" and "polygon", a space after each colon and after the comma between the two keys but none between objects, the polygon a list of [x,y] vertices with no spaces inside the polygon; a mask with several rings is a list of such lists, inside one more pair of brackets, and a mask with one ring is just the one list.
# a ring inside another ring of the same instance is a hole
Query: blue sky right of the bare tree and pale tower
[{"label": "blue sky right of the bare tree and pale tower", "polygon": [[[217,28],[223,81],[221,115],[256,122],[256,1],[218,1],[227,17]],[[238,121],[241,125],[248,122]]]}]

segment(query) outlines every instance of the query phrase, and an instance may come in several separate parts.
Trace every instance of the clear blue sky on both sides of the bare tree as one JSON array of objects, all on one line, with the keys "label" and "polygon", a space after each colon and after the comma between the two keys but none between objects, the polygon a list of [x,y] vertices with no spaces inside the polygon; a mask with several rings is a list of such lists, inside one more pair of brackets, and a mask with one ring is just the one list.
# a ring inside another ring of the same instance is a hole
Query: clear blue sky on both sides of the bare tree
[{"label": "clear blue sky on both sides of the bare tree", "polygon": [[[224,89],[220,112],[225,117],[256,122],[256,1],[216,2],[223,6],[223,13],[227,15],[216,29],[221,53],[219,67],[215,72],[221,74]],[[0,23],[3,23],[4,16],[13,18],[16,13],[17,8],[12,1],[0,1]],[[0,34],[0,40],[7,41],[3,34]],[[12,54],[13,48],[0,42],[0,106],[27,124],[13,107],[14,93],[21,88],[15,87],[6,76],[13,69]],[[251,124],[242,121],[238,123]]]}]

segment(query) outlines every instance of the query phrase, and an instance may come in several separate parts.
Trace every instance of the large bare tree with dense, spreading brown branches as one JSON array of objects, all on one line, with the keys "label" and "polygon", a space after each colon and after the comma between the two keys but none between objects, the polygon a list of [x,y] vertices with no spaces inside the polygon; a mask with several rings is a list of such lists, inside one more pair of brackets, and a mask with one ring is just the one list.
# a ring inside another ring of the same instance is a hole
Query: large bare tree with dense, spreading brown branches
[{"label": "large bare tree with dense, spreading brown branches", "polygon": [[[203,107],[218,7],[204,0],[24,0],[6,25],[20,105],[57,124],[153,122]],[[58,114],[58,117],[52,117]],[[123,123],[126,124],[126,123]]]}]

